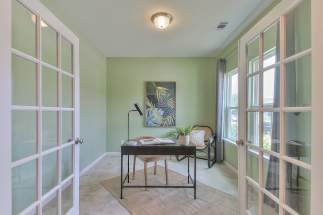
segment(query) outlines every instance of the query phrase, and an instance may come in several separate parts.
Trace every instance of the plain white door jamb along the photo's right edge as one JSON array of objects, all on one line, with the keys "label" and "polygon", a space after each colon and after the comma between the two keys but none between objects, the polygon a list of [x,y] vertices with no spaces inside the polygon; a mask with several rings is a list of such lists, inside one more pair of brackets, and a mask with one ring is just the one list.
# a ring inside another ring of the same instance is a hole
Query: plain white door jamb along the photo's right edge
[{"label": "plain white door jamb along the photo's right edge", "polygon": [[311,28],[312,28],[312,171],[311,171],[311,214],[321,214],[323,193],[323,28],[322,28],[323,1],[311,1]]}]

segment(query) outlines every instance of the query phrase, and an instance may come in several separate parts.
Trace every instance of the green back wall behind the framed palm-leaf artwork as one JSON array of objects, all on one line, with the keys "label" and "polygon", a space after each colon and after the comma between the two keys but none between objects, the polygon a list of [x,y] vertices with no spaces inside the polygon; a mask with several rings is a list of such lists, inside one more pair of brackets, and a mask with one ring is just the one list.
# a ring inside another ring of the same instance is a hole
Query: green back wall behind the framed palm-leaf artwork
[{"label": "green back wall behind the framed palm-leaf artwork", "polygon": [[[209,125],[214,129],[216,58],[109,57],[106,60],[107,152],[120,152],[127,140],[127,117],[138,102],[145,110],[146,81],[176,82],[176,124]],[[145,112],[145,111],[144,111]],[[129,138],[165,137],[170,127],[145,127],[145,115],[129,115]]]}]

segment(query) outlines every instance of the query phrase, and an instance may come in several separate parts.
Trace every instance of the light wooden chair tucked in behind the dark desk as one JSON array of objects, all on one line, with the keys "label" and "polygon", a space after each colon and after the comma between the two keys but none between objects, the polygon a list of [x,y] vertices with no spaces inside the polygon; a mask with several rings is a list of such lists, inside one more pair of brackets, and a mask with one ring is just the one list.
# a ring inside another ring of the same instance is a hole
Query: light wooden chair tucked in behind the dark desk
[{"label": "light wooden chair tucked in behind the dark desk", "polygon": [[[149,139],[155,138],[153,136],[137,136],[135,139]],[[156,175],[157,172],[157,161],[165,161],[165,175],[166,175],[166,185],[168,185],[168,166],[167,166],[167,156],[160,155],[160,156],[149,156],[149,155],[134,155],[133,157],[133,171],[132,171],[132,179],[135,179],[135,171],[136,171],[136,158],[144,164],[144,174],[145,174],[145,186],[147,186],[147,163],[155,162],[155,169],[154,174]],[[147,191],[147,187],[146,187]]]}]

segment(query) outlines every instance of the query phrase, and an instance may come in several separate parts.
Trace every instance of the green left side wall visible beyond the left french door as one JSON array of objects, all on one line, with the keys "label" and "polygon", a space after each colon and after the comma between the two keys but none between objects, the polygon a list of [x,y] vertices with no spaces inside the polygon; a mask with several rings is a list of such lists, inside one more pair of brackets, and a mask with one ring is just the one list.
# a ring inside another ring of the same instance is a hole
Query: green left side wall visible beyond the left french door
[{"label": "green left side wall visible beyond the left french door", "polygon": [[80,171],[106,152],[106,57],[48,0],[40,0],[80,41]]}]

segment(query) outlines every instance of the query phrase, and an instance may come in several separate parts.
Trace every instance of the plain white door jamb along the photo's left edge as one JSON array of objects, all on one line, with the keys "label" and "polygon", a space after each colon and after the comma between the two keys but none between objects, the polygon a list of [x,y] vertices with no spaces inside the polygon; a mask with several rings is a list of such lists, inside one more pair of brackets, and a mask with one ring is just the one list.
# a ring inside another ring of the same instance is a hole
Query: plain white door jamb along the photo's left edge
[{"label": "plain white door jamb along the photo's left edge", "polygon": [[[11,1],[0,8],[0,208],[11,214]],[[9,91],[8,91],[9,90]]]}]

